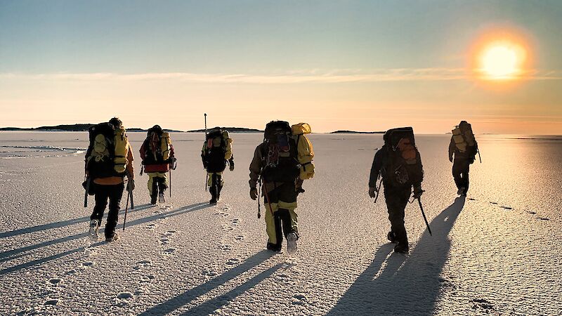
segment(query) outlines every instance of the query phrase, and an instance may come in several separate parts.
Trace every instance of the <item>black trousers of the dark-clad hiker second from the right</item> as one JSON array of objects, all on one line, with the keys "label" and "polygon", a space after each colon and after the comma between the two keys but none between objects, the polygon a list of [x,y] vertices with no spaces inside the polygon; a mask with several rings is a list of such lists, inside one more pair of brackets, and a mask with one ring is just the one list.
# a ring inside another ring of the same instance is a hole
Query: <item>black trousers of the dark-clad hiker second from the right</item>
[{"label": "black trousers of the dark-clad hiker second from the right", "polygon": [[384,199],[388,209],[388,220],[391,222],[391,231],[396,236],[398,244],[407,244],[408,242],[406,228],[404,227],[404,210],[411,193],[412,187],[410,185],[403,187],[384,185]]}]

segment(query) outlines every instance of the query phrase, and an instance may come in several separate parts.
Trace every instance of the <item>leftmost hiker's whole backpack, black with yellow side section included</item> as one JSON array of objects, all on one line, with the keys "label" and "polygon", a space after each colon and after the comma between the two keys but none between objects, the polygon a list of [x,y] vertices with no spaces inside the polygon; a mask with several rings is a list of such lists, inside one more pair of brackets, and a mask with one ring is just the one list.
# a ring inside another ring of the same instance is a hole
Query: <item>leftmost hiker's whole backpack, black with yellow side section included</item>
[{"label": "leftmost hiker's whole backpack, black with yellow side section included", "polygon": [[129,150],[125,129],[100,123],[89,129],[90,144],[86,151],[86,171],[95,178],[125,176]]}]

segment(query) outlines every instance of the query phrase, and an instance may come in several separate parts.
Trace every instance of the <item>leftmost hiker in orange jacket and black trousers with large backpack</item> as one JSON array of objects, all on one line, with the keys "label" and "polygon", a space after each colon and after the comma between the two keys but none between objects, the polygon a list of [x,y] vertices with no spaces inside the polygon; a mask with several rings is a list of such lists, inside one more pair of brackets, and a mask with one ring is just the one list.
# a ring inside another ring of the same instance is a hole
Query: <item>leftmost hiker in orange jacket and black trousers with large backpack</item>
[{"label": "leftmost hiker in orange jacket and black trousers with large backpack", "polygon": [[[89,191],[96,196],[96,206],[90,216],[90,237],[98,239],[103,212],[110,202],[105,224],[105,241],[117,240],[115,227],[119,214],[119,203],[123,195],[124,177],[128,178],[127,191],[135,189],[133,173],[133,150],[127,139],[122,121],[117,117],[107,123],[91,126],[90,145],[86,151],[86,176],[89,177]],[[87,180],[88,181],[88,180]],[[92,188],[93,186],[93,188]]]}]

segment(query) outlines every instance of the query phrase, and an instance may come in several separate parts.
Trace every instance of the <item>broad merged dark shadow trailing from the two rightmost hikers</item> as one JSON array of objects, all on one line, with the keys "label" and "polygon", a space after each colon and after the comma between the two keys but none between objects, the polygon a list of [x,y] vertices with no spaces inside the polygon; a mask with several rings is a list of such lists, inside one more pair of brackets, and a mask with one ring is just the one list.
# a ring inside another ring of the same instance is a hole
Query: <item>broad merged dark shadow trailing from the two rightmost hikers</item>
[{"label": "broad merged dark shadow trailing from the two rightmost hikers", "polygon": [[464,201],[455,199],[431,221],[433,236],[425,231],[410,256],[391,254],[393,244],[381,246],[327,315],[433,315],[450,250],[448,235]]}]

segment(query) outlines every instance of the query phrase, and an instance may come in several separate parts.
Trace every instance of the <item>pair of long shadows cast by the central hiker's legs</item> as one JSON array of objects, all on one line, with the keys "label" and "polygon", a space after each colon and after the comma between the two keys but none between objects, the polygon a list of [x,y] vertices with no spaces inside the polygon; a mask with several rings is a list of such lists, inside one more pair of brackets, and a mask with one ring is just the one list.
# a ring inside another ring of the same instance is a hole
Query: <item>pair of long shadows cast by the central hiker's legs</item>
[{"label": "pair of long shadows cast by the central hiker's legs", "polygon": [[[174,310],[177,310],[178,308],[181,308],[182,306],[187,305],[192,301],[195,301],[196,298],[209,293],[213,289],[216,289],[221,285],[226,284],[226,282],[234,279],[235,277],[238,277],[242,273],[247,272],[252,268],[255,268],[257,265],[265,262],[268,258],[271,258],[274,254],[275,253],[273,253],[273,251],[262,250],[259,253],[254,254],[254,256],[247,258],[244,261],[244,263],[241,263],[240,265],[237,265],[235,268],[232,268],[224,272],[222,275],[219,275],[214,279],[210,279],[208,282],[201,284],[197,287],[194,287],[193,289],[190,289],[188,291],[185,291],[185,293],[180,294],[174,298],[170,298],[168,301],[159,303],[158,305],[155,305],[152,308],[145,310],[144,312],[139,314],[139,316],[166,315],[169,312],[173,312]],[[236,296],[239,296],[240,294],[243,294],[248,289],[255,287],[256,284],[259,284],[259,282],[263,281],[263,279],[266,279],[267,277],[272,275],[273,272],[275,272],[281,267],[282,267],[282,263],[278,263],[277,265],[274,265],[273,267],[260,272],[258,275],[252,277],[247,282],[244,282],[244,284],[241,284],[238,287],[235,287],[235,289],[228,291],[226,294],[217,296],[216,298],[212,298],[211,300],[206,301],[201,305],[197,305],[196,307],[187,310],[181,315],[207,315],[213,312],[214,310],[216,310],[217,308],[219,308],[220,306],[226,305],[228,301],[231,301]]]}]

